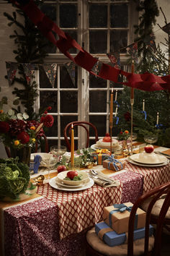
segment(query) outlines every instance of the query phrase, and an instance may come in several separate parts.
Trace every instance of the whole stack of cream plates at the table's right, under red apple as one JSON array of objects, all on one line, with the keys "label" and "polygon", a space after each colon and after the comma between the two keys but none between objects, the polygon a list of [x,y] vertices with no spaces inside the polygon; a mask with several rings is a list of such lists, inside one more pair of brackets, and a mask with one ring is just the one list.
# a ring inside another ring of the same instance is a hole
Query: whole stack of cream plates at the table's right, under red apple
[{"label": "whole stack of cream plates at the table's right, under red apple", "polygon": [[134,163],[138,166],[164,166],[169,163],[168,158],[164,155],[158,155],[155,153],[138,153],[135,155],[130,155],[128,158],[130,163]]}]

